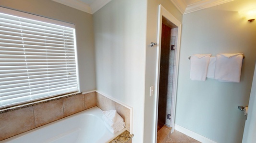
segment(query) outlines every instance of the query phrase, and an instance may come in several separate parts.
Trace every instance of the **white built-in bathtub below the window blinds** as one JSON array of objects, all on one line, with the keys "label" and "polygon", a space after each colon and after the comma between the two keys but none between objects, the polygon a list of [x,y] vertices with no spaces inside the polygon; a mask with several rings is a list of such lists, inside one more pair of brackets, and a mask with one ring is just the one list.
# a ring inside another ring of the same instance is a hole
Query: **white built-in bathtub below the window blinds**
[{"label": "white built-in bathtub below the window blinds", "polygon": [[95,106],[0,143],[108,143],[126,130],[112,134],[101,117],[102,110]]}]

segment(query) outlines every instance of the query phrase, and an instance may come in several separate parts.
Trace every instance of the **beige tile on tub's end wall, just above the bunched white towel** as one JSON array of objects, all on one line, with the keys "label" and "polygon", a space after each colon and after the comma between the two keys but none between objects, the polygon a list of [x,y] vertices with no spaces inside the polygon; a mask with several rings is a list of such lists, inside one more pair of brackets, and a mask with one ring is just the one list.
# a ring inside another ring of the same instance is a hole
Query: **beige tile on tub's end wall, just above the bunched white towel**
[{"label": "beige tile on tub's end wall, just above the bunched white towel", "polygon": [[96,92],[96,104],[103,111],[116,109],[116,102],[106,98],[98,92]]}]

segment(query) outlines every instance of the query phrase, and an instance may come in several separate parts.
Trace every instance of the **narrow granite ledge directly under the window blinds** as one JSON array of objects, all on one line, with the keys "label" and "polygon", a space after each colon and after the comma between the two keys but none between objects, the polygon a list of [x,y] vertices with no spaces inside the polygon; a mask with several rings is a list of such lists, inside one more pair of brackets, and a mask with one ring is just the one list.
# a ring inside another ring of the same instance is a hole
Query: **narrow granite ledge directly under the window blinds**
[{"label": "narrow granite ledge directly under the window blinds", "polygon": [[3,108],[3,109],[0,109],[0,114],[4,113],[4,112],[11,112],[11,111],[14,111],[14,110],[18,110],[18,109],[22,109],[22,108],[26,108],[26,107],[31,107],[31,106],[34,106],[34,105],[38,105],[38,104],[42,104],[42,103],[46,103],[46,102],[51,102],[51,101],[55,101],[55,100],[59,100],[59,99],[63,99],[63,98],[67,98],[67,97],[71,97],[71,96],[75,96],[75,95],[80,95],[80,94],[82,94],[82,92],[72,92],[72,93],[68,93],[68,94],[62,94],[62,95],[50,97],[50,98],[47,98],[47,99],[42,99],[42,100],[38,100],[38,101],[33,101],[33,102],[23,103],[23,104],[20,104],[20,105],[6,107],[6,108]]}]

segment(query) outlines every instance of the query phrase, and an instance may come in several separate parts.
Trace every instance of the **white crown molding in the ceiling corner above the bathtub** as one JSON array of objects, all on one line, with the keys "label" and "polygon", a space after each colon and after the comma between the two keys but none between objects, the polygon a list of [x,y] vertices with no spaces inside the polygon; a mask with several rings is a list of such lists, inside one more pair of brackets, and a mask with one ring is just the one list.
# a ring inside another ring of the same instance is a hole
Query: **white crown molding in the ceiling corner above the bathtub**
[{"label": "white crown molding in the ceiling corner above the bathtub", "polygon": [[102,7],[104,7],[111,0],[94,0],[92,4],[87,4],[81,0],[52,0],[66,6],[72,7],[77,10],[81,10],[90,14],[95,13]]}]

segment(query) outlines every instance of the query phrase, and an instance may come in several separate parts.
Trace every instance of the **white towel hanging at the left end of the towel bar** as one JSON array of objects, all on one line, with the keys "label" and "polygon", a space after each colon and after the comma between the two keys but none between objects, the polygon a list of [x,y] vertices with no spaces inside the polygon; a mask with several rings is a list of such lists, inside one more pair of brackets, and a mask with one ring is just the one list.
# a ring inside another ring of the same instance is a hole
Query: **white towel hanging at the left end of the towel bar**
[{"label": "white towel hanging at the left end of the towel bar", "polygon": [[190,57],[190,79],[205,81],[211,54],[193,54]]}]

